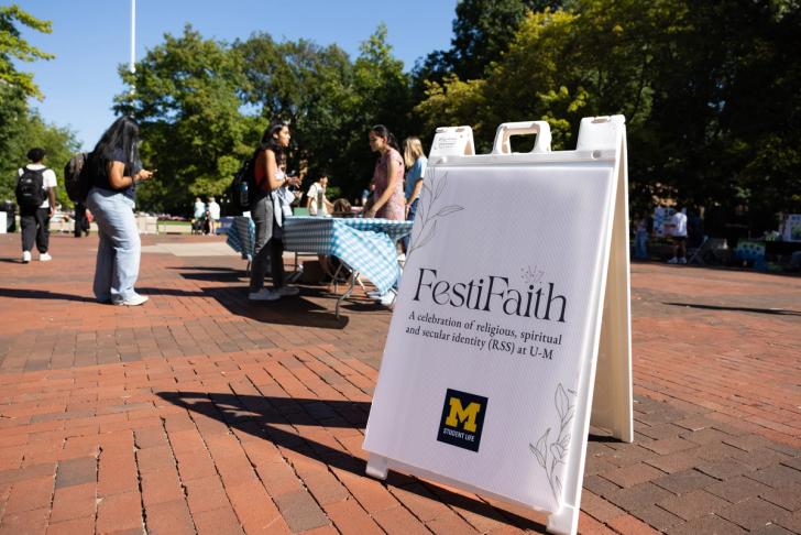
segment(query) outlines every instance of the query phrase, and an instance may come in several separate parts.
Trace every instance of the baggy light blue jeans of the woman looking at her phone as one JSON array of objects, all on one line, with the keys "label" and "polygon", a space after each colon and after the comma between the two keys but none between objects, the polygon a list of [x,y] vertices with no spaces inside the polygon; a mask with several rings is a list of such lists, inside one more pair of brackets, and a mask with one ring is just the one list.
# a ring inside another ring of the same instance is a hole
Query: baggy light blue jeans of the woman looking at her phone
[{"label": "baggy light blue jeans of the woman looking at her phone", "polygon": [[95,297],[119,303],[136,295],[142,243],[139,239],[133,199],[121,193],[91,188],[86,205],[95,216],[100,244],[95,264]]}]

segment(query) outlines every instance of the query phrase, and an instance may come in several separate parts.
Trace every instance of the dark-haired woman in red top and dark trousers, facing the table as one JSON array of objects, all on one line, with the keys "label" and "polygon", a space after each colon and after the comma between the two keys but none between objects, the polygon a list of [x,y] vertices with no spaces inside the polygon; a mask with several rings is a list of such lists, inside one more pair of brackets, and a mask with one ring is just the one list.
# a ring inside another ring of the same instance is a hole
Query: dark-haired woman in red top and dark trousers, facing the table
[{"label": "dark-haired woman in red top and dark trousers, facing the table", "polygon": [[[278,188],[285,184],[298,186],[299,177],[287,177],[281,170],[281,162],[289,146],[289,127],[283,122],[273,122],[262,135],[262,141],[254,154],[255,188],[251,195],[251,217],[256,226],[256,243],[253,264],[251,265],[250,295],[251,301],[275,301],[282,296],[297,295],[296,286],[284,285],[283,243],[281,227],[283,214]],[[273,288],[264,287],[264,275],[267,271],[267,256],[271,259]]]}]

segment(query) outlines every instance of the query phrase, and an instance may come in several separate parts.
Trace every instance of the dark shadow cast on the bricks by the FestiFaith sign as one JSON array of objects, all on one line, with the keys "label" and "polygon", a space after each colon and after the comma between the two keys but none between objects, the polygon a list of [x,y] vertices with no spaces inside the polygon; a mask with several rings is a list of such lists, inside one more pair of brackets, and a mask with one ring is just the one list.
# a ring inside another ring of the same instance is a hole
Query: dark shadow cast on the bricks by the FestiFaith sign
[{"label": "dark shadow cast on the bricks by the FestiFaith sign", "polygon": [[[261,395],[234,395],[230,393],[158,392],[163,400],[191,413],[220,421],[232,429],[268,440],[311,460],[370,479],[365,476],[366,463],[347,451],[332,448],[308,437],[276,427],[320,426],[362,429],[367,423],[370,403]],[[545,533],[546,526],[512,511],[497,509],[463,493],[450,491],[428,481],[416,480],[397,472],[389,472],[385,487],[403,489],[420,498],[431,494],[452,507],[512,524],[520,529]]]}]

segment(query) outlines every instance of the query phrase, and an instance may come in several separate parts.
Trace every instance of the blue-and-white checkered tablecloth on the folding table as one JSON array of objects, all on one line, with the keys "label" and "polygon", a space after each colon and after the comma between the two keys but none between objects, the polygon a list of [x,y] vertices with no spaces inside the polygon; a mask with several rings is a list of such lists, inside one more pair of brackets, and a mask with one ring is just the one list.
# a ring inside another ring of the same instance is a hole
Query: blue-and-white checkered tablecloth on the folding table
[{"label": "blue-and-white checkered tablecloth on the folding table", "polygon": [[[248,238],[244,228],[248,228]],[[378,290],[388,291],[401,276],[395,242],[412,232],[412,221],[388,219],[288,217],[284,220],[284,248],[287,251],[329,254],[339,258],[366,276]],[[243,243],[244,241],[244,243]],[[228,232],[227,243],[244,256],[252,254],[255,225],[238,217]]]}]

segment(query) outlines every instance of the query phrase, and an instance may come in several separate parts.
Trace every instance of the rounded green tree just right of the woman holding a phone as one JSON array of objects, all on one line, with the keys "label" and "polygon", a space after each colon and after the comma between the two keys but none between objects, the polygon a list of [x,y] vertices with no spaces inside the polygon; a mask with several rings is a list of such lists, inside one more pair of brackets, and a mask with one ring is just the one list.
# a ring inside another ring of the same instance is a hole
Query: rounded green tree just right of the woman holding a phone
[{"label": "rounded green tree just right of the woman holding a phone", "polygon": [[120,76],[132,90],[117,96],[114,109],[140,122],[142,160],[157,170],[138,192],[141,205],[182,214],[197,195],[221,195],[254,135],[240,112],[241,56],[187,25]]}]

